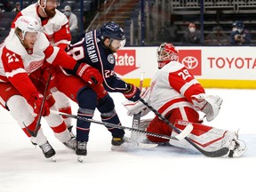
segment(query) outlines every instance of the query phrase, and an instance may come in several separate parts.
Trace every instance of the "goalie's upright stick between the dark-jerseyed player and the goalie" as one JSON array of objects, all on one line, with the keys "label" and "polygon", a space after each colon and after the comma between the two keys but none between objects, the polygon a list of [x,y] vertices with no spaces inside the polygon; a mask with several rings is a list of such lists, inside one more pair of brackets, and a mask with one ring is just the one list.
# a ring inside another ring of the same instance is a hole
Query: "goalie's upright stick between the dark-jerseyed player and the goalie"
[{"label": "goalie's upright stick between the dark-jerseyed player and the goalie", "polygon": [[[141,73],[140,75],[140,90],[142,90],[143,87],[143,80],[144,80],[144,72]],[[132,128],[134,129],[139,129],[139,124],[140,124],[140,116],[141,116],[141,112],[138,114],[134,114],[133,118],[132,118]],[[132,132],[131,133],[131,143],[132,146],[136,145],[137,139],[138,139],[138,132]]]}]

